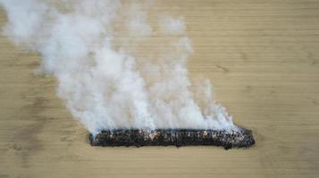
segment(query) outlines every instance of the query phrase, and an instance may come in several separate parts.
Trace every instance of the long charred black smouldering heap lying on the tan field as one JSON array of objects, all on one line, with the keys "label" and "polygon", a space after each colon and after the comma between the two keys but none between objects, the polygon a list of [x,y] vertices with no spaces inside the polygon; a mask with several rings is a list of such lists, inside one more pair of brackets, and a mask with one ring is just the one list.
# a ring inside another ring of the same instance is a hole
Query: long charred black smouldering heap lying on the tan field
[{"label": "long charred black smouldering heap lying on the tan field", "polygon": [[225,150],[248,148],[255,144],[250,130],[196,130],[196,129],[116,129],[104,130],[89,140],[92,146],[188,146],[211,145],[222,146]]}]

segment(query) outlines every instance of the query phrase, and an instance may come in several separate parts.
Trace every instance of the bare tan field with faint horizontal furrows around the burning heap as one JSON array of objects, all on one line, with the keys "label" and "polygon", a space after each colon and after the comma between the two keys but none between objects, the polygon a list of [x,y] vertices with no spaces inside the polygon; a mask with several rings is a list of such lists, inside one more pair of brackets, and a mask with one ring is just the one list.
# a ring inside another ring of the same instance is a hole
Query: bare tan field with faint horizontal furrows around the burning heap
[{"label": "bare tan field with faint horizontal furrows around the burning heap", "polygon": [[[164,0],[195,53],[192,78],[253,130],[248,150],[98,148],[35,75],[41,57],[0,36],[0,177],[319,177],[319,1]],[[0,25],[6,16],[0,12]]]}]

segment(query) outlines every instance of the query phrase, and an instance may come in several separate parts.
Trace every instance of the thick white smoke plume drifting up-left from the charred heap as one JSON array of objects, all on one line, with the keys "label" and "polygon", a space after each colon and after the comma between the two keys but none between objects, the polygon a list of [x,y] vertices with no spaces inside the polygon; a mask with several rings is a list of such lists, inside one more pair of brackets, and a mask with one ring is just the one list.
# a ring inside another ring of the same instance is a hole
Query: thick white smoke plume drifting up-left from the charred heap
[{"label": "thick white smoke plume drifting up-left from the charred heap", "polygon": [[[208,80],[191,89],[186,63],[193,52],[182,17],[163,13],[149,22],[151,1],[143,6],[116,0],[0,4],[7,12],[4,35],[42,56],[39,70],[57,78],[58,96],[90,133],[236,128],[215,103]],[[149,40],[154,46],[143,45]]]}]

